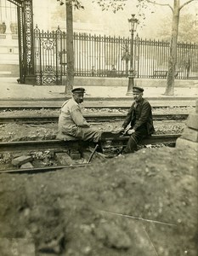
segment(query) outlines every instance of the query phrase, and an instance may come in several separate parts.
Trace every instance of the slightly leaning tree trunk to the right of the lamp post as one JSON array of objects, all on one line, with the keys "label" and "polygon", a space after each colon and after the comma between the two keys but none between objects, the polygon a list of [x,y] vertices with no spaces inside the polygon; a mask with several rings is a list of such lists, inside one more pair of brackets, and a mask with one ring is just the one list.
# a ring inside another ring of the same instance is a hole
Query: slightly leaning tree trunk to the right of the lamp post
[{"label": "slightly leaning tree trunk to the right of the lamp post", "polygon": [[174,95],[175,68],[177,63],[177,44],[178,44],[178,22],[179,22],[179,0],[174,0],[172,37],[170,42],[170,57],[167,67],[167,87],[165,95]]}]

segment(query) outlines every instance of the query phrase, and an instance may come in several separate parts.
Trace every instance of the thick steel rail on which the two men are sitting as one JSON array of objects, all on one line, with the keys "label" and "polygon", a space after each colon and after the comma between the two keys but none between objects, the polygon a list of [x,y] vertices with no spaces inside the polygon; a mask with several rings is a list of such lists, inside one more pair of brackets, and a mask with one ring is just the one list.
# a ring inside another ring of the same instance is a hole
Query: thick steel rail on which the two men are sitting
[{"label": "thick steel rail on which the two men are sitting", "polygon": [[[142,141],[142,144],[158,144],[158,143],[175,143],[176,139],[180,137],[180,134],[161,134],[152,135]],[[108,143],[123,143],[127,142],[128,136],[115,137],[109,133],[106,133],[105,137],[102,137],[101,141],[104,144]],[[0,151],[19,151],[19,150],[35,150],[35,149],[57,149],[59,151],[66,147],[73,147],[79,141],[59,141],[59,140],[42,140],[42,141],[21,141],[21,142],[7,142],[0,143]]]}]

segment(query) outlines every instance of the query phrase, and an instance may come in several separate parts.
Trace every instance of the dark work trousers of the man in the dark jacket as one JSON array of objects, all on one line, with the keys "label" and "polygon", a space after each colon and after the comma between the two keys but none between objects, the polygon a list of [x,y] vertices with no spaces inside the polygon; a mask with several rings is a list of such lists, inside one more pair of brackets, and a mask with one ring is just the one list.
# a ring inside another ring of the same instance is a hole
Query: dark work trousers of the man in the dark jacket
[{"label": "dark work trousers of the man in the dark jacket", "polygon": [[139,129],[129,137],[127,147],[123,149],[123,154],[134,153],[137,150],[138,144],[144,137],[148,136],[146,127],[139,127]]}]

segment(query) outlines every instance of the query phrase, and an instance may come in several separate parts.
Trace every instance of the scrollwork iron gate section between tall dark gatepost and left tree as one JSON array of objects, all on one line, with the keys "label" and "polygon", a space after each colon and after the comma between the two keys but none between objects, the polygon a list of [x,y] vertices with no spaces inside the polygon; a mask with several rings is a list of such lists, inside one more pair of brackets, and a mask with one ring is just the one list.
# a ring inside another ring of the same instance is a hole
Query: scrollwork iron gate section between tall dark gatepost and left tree
[{"label": "scrollwork iron gate section between tall dark gatepost and left tree", "polygon": [[62,72],[66,65],[65,49],[58,28],[53,32],[34,30],[35,75],[37,84],[61,84]]}]

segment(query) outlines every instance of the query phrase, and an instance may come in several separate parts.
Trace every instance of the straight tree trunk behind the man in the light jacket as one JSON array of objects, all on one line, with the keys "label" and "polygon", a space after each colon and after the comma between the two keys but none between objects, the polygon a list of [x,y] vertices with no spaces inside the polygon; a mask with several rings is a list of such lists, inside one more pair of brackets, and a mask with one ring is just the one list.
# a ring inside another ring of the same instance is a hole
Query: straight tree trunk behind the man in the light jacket
[{"label": "straight tree trunk behind the man in the light jacket", "polygon": [[66,84],[65,94],[71,94],[74,85],[73,12],[72,3],[66,4]]}]

